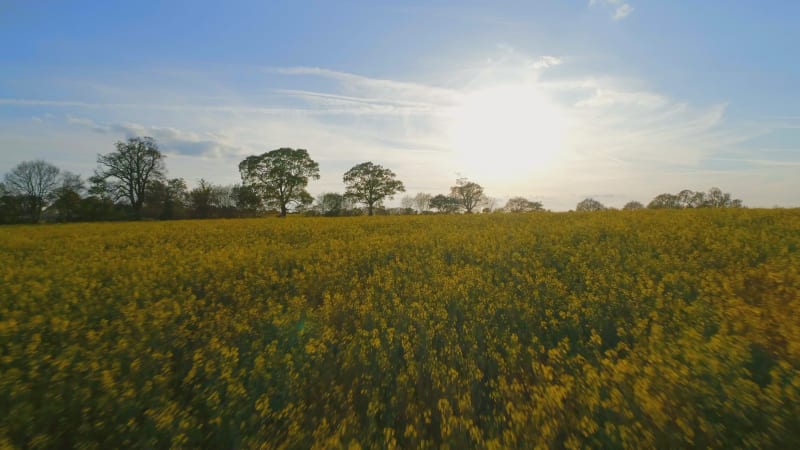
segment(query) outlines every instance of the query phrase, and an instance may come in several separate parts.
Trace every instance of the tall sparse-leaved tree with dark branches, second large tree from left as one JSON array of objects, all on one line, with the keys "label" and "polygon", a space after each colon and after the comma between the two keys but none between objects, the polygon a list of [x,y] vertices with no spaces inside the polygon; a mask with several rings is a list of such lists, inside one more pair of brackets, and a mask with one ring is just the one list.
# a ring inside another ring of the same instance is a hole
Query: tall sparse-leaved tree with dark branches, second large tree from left
[{"label": "tall sparse-leaved tree with dark branches, second large tree from left", "polygon": [[164,178],[164,155],[151,137],[133,137],[115,145],[115,152],[97,155],[100,167],[95,170],[92,182],[101,186],[103,180],[113,200],[126,199],[139,215],[149,184]]}]

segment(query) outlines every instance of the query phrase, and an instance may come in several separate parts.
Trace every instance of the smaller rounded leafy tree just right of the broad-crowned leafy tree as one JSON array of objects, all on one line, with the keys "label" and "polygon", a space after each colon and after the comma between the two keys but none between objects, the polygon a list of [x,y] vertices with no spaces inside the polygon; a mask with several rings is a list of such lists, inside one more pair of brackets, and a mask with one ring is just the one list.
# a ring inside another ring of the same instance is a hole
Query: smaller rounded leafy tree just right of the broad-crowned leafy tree
[{"label": "smaller rounded leafy tree just right of the broad-crowned leafy tree", "polygon": [[343,180],[344,195],[365,204],[370,216],[375,206],[380,206],[385,198],[391,199],[397,192],[406,191],[394,172],[371,161],[353,166],[345,172]]}]

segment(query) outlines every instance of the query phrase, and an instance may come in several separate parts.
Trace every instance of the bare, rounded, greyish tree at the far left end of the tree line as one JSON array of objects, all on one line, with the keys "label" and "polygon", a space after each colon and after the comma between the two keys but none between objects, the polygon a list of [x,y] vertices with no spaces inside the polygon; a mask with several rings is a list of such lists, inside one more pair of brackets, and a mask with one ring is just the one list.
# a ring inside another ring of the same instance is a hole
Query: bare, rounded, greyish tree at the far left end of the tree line
[{"label": "bare, rounded, greyish tree at the far left end of the tree line", "polygon": [[37,223],[58,187],[58,167],[40,159],[19,163],[5,176],[6,189],[19,197],[22,210]]}]

